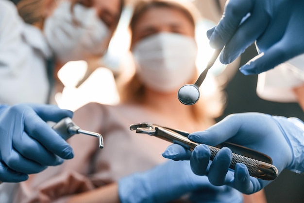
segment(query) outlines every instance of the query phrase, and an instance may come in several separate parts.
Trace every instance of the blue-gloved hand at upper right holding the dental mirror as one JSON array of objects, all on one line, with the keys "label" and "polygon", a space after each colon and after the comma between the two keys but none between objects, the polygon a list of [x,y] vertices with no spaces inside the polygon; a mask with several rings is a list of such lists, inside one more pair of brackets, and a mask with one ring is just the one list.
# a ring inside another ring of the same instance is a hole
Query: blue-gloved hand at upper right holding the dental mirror
[{"label": "blue-gloved hand at upper right holding the dental mirror", "polygon": [[259,74],[304,53],[303,22],[303,0],[229,0],[219,24],[207,37],[211,47],[225,46],[220,55],[224,64],[234,61],[255,41],[260,55],[240,71]]}]

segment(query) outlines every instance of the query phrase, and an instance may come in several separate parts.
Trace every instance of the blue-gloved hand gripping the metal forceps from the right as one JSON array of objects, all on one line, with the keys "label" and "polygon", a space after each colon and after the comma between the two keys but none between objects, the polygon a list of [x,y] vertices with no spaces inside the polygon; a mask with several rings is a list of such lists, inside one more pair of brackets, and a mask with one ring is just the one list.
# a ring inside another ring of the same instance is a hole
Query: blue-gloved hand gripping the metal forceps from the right
[{"label": "blue-gloved hand gripping the metal forceps from the right", "polygon": [[[271,116],[263,113],[238,113],[227,116],[218,124],[188,138],[194,142],[215,146],[224,141],[252,148],[269,155],[279,173],[287,168],[304,172],[304,126],[296,118]],[[190,159],[194,173],[207,175],[213,185],[229,185],[245,194],[261,190],[271,181],[249,176],[243,164],[236,164],[235,171],[229,169],[232,152],[222,148],[209,164],[210,150],[206,145],[197,146],[192,153],[174,144],[163,153],[174,160]]]}]

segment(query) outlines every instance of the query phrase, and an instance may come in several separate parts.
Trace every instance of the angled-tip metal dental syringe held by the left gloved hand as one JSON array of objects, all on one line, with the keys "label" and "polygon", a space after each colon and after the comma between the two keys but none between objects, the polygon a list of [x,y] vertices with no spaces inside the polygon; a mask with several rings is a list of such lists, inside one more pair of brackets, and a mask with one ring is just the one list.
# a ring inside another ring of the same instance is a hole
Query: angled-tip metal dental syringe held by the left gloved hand
[{"label": "angled-tip metal dental syringe held by the left gloved hand", "polygon": [[66,117],[56,123],[52,129],[54,129],[63,139],[67,140],[74,134],[85,134],[94,137],[98,137],[99,139],[99,148],[103,148],[103,138],[101,134],[96,132],[90,132],[83,129],[80,129],[71,118]]}]

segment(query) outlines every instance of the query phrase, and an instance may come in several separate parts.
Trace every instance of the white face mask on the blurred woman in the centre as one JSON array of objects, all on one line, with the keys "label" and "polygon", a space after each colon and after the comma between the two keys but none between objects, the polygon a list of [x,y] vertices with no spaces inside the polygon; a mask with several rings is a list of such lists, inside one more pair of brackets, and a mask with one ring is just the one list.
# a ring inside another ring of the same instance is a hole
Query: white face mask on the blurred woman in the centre
[{"label": "white face mask on the blurred woman in the centre", "polygon": [[196,71],[197,45],[193,37],[156,34],[136,43],[132,53],[142,82],[156,91],[176,91]]}]

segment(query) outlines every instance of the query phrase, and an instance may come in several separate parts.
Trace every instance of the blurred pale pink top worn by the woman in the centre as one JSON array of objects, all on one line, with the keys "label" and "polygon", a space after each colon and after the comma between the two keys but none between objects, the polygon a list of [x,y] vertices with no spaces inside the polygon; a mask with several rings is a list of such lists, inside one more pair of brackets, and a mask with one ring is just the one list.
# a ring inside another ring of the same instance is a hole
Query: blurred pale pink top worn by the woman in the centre
[{"label": "blurred pale pink top worn by the woman in the centre", "polygon": [[153,122],[186,131],[204,129],[198,125],[196,129],[179,128],[176,121],[182,119],[176,114],[160,116],[139,106],[88,104],[75,112],[73,120],[82,129],[101,133],[104,148],[98,147],[96,137],[74,135],[68,140],[74,149],[74,158],[21,183],[14,203],[49,203],[59,197],[58,202],[65,202],[68,195],[116,182],[123,176],[156,166],[166,161],[161,153],[170,143],[147,134],[136,134],[129,126]]}]

